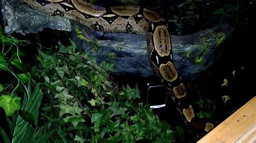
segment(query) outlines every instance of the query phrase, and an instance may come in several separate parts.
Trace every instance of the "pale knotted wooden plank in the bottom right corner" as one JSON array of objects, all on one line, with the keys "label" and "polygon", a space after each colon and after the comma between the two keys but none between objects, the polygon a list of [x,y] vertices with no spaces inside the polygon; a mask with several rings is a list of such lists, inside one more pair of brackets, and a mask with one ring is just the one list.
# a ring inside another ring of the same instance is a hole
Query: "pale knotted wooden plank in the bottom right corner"
[{"label": "pale knotted wooden plank in the bottom right corner", "polygon": [[256,142],[256,96],[215,127],[198,143]]}]

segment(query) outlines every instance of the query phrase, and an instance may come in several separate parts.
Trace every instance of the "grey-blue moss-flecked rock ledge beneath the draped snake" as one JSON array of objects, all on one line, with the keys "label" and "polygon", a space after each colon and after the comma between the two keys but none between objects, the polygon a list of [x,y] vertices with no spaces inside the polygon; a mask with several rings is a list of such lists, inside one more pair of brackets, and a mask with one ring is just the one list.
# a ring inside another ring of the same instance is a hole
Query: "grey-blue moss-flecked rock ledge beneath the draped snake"
[{"label": "grey-blue moss-flecked rock ledge beneath the draped snake", "polygon": [[[18,0],[2,0],[5,33],[37,33],[44,28],[70,31],[78,47],[90,52],[97,62],[113,62],[115,73],[152,75],[147,61],[146,36],[131,33],[95,32],[63,17],[34,11]],[[195,78],[209,68],[221,54],[220,45],[231,36],[233,27],[221,20],[206,30],[189,35],[172,35],[173,58],[181,77]]]}]

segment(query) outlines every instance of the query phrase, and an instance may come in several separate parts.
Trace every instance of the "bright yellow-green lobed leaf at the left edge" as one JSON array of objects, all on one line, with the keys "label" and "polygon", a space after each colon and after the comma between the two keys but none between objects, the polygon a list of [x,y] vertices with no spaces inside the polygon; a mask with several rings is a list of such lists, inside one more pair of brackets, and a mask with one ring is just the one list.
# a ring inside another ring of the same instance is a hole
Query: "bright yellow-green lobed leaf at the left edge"
[{"label": "bright yellow-green lobed leaf at the left edge", "polygon": [[6,116],[12,116],[15,111],[21,109],[21,97],[2,95],[0,96],[0,106],[4,109]]}]

